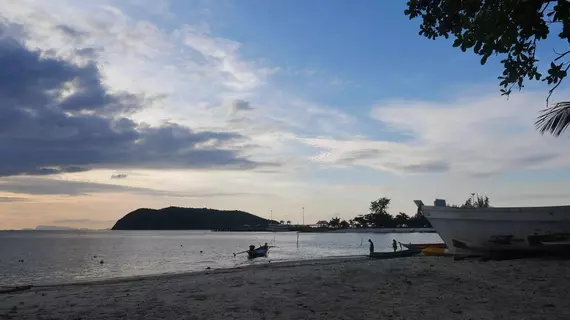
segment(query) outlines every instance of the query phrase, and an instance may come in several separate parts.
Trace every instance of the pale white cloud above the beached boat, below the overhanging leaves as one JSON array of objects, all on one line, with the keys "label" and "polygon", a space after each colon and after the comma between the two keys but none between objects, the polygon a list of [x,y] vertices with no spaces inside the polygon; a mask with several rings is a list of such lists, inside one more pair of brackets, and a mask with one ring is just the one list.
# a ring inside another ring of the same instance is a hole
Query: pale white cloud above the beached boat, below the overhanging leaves
[{"label": "pale white cloud above the beached boat, below the overhanging leaves", "polygon": [[386,101],[371,116],[405,138],[306,139],[323,150],[312,159],[362,165],[394,173],[450,172],[489,175],[567,167],[567,140],[534,129],[542,93],[456,97],[448,102]]}]

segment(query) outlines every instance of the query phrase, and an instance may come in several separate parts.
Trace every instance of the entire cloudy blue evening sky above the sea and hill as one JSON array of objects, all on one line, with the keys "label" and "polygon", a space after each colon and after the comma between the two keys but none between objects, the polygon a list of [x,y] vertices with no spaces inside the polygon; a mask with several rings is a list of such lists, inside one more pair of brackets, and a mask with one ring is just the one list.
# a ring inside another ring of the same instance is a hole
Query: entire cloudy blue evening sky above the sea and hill
[{"label": "entire cloudy blue evening sky above the sea and hill", "polygon": [[471,193],[568,204],[569,135],[534,129],[548,87],[502,97],[500,57],[419,36],[405,1],[0,5],[0,229],[110,228],[140,207],[315,223],[380,197],[392,214]]}]

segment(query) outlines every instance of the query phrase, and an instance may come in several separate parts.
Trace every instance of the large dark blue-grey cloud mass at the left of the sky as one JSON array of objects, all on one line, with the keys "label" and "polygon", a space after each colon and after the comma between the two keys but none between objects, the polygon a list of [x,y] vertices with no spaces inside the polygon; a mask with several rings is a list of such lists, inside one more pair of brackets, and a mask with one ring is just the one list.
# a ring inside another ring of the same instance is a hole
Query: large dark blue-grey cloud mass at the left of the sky
[{"label": "large dark blue-grey cloud mass at the left of the sky", "polygon": [[[81,35],[67,26],[59,29]],[[259,166],[228,148],[243,138],[239,134],[133,122],[127,115],[153,99],[110,92],[95,63],[77,65],[42,55],[4,30],[0,25],[0,176]]]}]

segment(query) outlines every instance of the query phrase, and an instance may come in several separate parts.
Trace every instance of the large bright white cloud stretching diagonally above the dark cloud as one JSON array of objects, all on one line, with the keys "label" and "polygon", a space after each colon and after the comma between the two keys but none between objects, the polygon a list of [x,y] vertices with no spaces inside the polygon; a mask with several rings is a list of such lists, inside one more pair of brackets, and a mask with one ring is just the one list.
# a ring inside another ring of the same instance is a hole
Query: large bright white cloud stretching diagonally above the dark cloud
[{"label": "large bright white cloud stretching diagonally above the dark cloud", "polygon": [[[154,11],[153,1],[137,3],[137,12],[145,9],[154,16],[150,12]],[[168,6],[159,7],[168,10]],[[168,121],[193,128],[193,132],[236,133],[235,139],[224,141],[224,147],[217,149],[226,150],[227,157],[249,162],[225,168],[257,168],[283,160],[290,163],[293,154],[299,163],[305,162],[306,146],[296,140],[297,136],[354,136],[351,130],[358,128],[355,117],[281,92],[271,82],[271,77],[280,72],[279,67],[247,57],[249,50],[243,50],[244,44],[214,34],[202,17],[199,23],[185,16],[187,24],[159,24],[138,20],[130,9],[130,1],[104,0],[88,5],[71,0],[49,4],[29,0],[12,2],[3,8],[2,15],[25,26],[29,47],[74,63],[96,61],[109,91],[130,92],[135,97],[146,93],[145,107],[125,116],[137,127],[140,122],[160,127]],[[164,98],[153,102],[148,96]],[[289,138],[283,139],[285,136]],[[246,147],[252,144],[261,148]],[[122,164],[75,166],[127,168]],[[133,169],[147,167],[137,165]],[[55,169],[66,170],[64,166]]]}]

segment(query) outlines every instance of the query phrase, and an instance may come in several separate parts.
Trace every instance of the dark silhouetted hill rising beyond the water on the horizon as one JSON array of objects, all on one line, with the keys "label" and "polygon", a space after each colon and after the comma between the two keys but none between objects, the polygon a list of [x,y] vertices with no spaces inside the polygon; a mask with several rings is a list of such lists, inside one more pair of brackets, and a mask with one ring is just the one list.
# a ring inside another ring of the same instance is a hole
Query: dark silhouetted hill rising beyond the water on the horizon
[{"label": "dark silhouetted hill rising beyond the water on the horizon", "polygon": [[244,211],[168,207],[137,209],[119,219],[112,230],[210,230],[244,225],[266,228],[270,222]]}]

